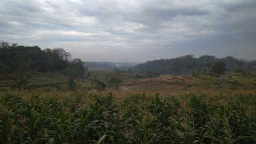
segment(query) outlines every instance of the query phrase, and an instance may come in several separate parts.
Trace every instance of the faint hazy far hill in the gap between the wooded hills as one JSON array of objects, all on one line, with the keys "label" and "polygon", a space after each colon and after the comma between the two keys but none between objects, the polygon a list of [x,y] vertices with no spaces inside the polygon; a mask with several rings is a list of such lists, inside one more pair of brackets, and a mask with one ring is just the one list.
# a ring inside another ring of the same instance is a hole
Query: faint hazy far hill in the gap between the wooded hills
[{"label": "faint hazy far hill in the gap between the wooded hills", "polygon": [[138,63],[136,62],[107,62],[107,61],[85,61],[84,67],[88,67],[89,69],[128,69],[133,67]]}]

